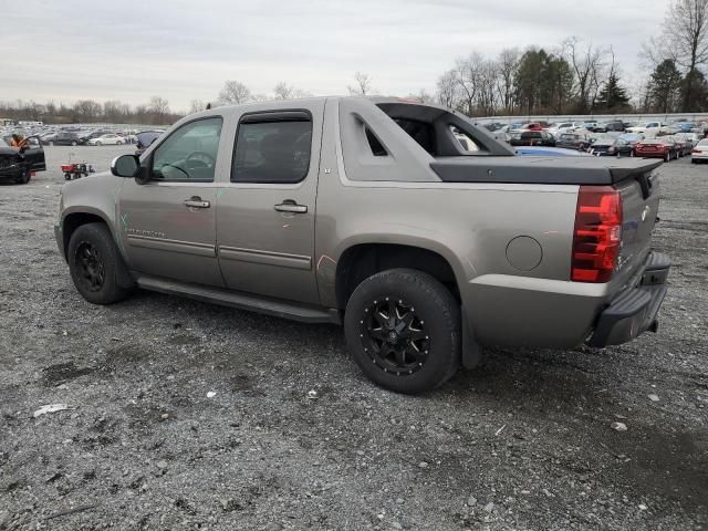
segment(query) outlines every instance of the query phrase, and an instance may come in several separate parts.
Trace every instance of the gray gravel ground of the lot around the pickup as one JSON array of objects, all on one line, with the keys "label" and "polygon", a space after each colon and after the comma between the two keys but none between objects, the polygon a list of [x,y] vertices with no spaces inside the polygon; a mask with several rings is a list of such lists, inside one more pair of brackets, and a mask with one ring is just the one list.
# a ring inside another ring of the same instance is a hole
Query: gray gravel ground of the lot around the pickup
[{"label": "gray gravel ground of the lot around the pickup", "polygon": [[49,147],[0,187],[0,529],[708,529],[708,166],[663,168],[658,334],[492,350],[409,397],[335,326],[86,303],[52,233],[72,152],[105,169],[129,148]]}]

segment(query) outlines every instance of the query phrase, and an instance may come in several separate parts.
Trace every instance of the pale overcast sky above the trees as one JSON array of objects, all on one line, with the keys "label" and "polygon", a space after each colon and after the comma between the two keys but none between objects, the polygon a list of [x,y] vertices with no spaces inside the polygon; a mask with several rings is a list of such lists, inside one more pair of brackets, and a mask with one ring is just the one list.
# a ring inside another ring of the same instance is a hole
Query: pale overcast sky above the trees
[{"label": "pale overcast sky above the trees", "polygon": [[612,45],[627,84],[668,0],[23,0],[0,9],[0,100],[215,100],[226,80],[345,94],[435,91],[455,59],[576,35]]}]

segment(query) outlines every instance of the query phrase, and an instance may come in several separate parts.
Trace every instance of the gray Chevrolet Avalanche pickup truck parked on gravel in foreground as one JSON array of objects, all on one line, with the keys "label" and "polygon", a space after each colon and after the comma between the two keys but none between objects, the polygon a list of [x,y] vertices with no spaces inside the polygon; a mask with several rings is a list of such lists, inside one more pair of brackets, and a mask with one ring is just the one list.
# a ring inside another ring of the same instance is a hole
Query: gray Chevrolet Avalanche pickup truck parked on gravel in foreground
[{"label": "gray Chevrolet Avalanche pickup truck parked on gravel in foreground", "polygon": [[371,379],[419,393],[483,345],[655,331],[670,267],[650,250],[660,164],[519,157],[406,101],[218,107],[64,185],[55,233],[90,302],[138,287],[342,323]]}]

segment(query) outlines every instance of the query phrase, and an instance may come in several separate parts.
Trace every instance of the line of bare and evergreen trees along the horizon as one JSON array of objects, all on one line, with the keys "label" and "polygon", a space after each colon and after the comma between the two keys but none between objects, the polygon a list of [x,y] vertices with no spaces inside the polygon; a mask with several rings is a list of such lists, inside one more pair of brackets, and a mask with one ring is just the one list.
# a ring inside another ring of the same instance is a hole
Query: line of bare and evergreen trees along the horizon
[{"label": "line of bare and evergreen trees along the horizon", "polygon": [[[457,108],[469,116],[532,114],[676,113],[708,111],[708,0],[670,0],[656,38],[643,45],[641,61],[646,79],[629,87],[612,46],[596,46],[579,38],[553,49],[509,48],[496,56],[479,52],[458,58],[437,80],[436,92],[409,97]],[[356,72],[350,94],[374,93],[368,74]],[[312,94],[288,82],[270,94],[253,93],[239,80],[226,81],[209,105],[290,100]],[[189,113],[207,103],[195,100]],[[131,106],[118,101],[103,104],[80,100],[73,105],[50,102],[0,102],[0,116],[51,123],[113,122],[165,125],[179,118],[168,102],[153,96]]]}]

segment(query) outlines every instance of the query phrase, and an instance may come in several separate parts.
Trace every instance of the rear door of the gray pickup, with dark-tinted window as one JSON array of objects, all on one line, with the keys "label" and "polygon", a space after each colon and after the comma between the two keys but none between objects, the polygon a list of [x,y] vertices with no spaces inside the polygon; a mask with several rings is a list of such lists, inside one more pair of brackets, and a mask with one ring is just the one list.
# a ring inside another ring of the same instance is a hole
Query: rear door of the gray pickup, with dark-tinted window
[{"label": "rear door of the gray pickup, with dark-tinted window", "polygon": [[324,102],[240,116],[217,242],[228,288],[319,303],[314,217]]}]

